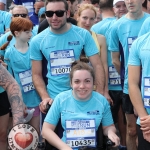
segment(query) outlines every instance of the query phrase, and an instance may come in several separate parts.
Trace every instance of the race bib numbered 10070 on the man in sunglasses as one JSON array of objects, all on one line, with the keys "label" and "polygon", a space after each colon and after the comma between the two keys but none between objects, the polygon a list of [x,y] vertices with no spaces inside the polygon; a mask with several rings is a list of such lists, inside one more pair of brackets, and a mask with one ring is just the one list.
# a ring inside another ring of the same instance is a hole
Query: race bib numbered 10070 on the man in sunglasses
[{"label": "race bib numbered 10070 on the man in sunglasses", "polygon": [[73,50],[59,50],[50,53],[51,75],[65,75],[71,71],[71,63],[75,61]]}]

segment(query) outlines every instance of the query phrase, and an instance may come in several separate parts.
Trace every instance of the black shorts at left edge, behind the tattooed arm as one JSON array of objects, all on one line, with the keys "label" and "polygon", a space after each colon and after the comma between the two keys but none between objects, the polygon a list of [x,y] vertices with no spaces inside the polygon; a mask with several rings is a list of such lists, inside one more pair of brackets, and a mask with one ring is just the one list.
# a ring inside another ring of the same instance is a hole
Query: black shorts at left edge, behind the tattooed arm
[{"label": "black shorts at left edge, behind the tattooed arm", "polygon": [[0,93],[0,116],[10,113],[11,107],[6,91]]}]

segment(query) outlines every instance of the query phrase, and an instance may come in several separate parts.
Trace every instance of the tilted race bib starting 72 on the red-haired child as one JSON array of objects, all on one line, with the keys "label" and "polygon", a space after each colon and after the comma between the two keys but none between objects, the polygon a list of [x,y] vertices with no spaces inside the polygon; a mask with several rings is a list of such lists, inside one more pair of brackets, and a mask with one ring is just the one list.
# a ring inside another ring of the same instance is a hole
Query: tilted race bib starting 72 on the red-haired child
[{"label": "tilted race bib starting 72 on the red-haired child", "polygon": [[34,90],[34,85],[32,82],[32,71],[26,70],[24,72],[19,73],[20,82],[24,92],[30,92]]}]

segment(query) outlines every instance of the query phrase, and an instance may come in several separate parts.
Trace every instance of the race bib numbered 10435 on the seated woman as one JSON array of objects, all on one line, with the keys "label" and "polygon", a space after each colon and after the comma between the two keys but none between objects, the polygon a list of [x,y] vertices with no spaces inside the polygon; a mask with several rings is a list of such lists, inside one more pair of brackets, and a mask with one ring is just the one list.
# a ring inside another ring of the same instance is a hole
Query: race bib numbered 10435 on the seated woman
[{"label": "race bib numbered 10435 on the seated woman", "polygon": [[66,144],[71,148],[96,147],[95,119],[66,120]]}]

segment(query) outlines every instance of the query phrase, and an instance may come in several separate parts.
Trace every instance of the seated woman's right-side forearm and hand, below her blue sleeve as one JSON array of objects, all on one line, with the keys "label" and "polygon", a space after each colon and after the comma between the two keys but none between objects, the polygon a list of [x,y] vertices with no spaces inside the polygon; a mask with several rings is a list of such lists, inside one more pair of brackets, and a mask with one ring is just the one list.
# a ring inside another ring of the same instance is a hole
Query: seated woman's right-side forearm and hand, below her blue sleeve
[{"label": "seated woman's right-side forearm and hand, below her blue sleeve", "polygon": [[116,128],[114,125],[103,126],[103,133],[105,136],[108,136],[108,138],[115,143],[115,146],[118,146],[120,144],[120,139],[116,135]]}]

